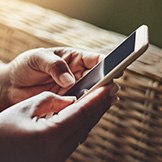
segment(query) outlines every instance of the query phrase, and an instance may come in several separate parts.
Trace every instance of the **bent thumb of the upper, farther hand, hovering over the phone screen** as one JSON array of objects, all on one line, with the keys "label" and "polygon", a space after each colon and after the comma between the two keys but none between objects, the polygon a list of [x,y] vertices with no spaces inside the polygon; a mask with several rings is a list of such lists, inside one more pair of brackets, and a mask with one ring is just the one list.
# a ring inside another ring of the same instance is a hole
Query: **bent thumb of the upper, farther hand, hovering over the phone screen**
[{"label": "bent thumb of the upper, farther hand, hovering over the phone screen", "polygon": [[43,49],[41,54],[35,56],[34,61],[39,70],[51,75],[58,85],[68,88],[75,83],[75,77],[67,63],[52,51]]}]

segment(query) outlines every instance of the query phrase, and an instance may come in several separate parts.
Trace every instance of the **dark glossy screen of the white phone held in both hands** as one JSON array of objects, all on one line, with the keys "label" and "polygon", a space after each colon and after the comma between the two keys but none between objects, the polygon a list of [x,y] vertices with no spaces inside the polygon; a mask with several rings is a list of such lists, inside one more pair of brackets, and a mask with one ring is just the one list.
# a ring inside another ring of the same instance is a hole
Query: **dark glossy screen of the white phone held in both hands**
[{"label": "dark glossy screen of the white phone held in both hands", "polygon": [[113,50],[103,61],[95,66],[95,68],[81,78],[65,93],[65,95],[76,96],[79,98],[84,94],[85,89],[90,89],[98,81],[103,79],[104,76],[106,76],[112,69],[114,69],[134,51],[135,36],[136,33],[134,32],[129,38],[127,38],[122,44]]}]

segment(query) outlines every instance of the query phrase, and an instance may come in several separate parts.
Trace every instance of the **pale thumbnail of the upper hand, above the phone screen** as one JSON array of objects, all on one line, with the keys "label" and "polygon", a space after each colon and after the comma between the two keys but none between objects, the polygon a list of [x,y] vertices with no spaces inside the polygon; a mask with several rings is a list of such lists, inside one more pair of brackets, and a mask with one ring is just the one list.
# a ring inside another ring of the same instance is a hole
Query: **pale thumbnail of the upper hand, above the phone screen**
[{"label": "pale thumbnail of the upper hand, above the phone screen", "polygon": [[75,79],[68,72],[60,75],[60,81],[64,85],[64,87],[68,87],[75,83]]}]

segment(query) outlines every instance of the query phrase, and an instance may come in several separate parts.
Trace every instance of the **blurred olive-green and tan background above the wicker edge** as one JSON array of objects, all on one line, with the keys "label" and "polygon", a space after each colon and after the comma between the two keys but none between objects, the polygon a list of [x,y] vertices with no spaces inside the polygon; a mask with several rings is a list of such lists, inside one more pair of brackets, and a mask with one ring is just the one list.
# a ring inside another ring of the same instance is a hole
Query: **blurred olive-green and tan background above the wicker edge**
[{"label": "blurred olive-green and tan background above the wicker edge", "polygon": [[162,0],[26,1],[124,35],[146,24],[149,26],[150,43],[162,48]]}]

